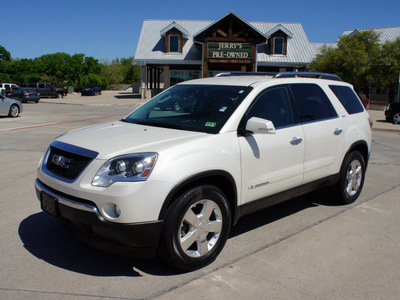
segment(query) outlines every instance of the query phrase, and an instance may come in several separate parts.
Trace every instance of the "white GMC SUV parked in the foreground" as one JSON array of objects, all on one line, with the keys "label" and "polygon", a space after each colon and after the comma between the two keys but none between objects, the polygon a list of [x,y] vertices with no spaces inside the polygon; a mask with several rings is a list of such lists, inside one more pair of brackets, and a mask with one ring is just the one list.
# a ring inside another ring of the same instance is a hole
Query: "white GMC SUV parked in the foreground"
[{"label": "white GMC SUV parked in the foreground", "polygon": [[102,249],[193,270],[248,213],[363,187],[372,122],[350,84],[319,73],[175,85],[126,118],[69,132],[38,168],[41,207]]}]

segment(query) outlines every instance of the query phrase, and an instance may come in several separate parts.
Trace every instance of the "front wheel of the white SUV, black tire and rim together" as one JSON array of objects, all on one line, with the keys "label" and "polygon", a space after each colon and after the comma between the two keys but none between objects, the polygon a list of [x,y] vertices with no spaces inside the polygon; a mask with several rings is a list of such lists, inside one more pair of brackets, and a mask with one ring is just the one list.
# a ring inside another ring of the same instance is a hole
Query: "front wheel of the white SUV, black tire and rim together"
[{"label": "front wheel of the white SUV, black tire and rim together", "polygon": [[223,192],[212,185],[192,188],[169,207],[158,255],[177,269],[199,269],[217,258],[230,228],[231,212]]}]

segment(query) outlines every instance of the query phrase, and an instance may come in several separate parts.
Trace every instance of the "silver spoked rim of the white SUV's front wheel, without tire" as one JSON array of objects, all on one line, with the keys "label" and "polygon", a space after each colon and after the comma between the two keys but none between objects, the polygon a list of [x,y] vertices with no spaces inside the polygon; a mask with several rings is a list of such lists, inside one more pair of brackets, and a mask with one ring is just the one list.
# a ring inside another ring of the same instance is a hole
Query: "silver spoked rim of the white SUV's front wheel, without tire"
[{"label": "silver spoked rim of the white SUV's front wheel, without tire", "polygon": [[212,200],[200,200],[185,213],[180,226],[180,246],[186,255],[201,257],[217,243],[222,230],[222,213]]}]

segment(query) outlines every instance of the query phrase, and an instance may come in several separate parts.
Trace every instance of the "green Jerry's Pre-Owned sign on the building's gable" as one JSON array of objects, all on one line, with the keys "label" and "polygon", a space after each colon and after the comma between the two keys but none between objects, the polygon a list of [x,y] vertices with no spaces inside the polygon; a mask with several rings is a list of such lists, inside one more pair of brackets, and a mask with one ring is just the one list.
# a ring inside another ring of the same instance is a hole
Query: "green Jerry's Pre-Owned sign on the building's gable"
[{"label": "green Jerry's Pre-Owned sign on the building's gable", "polygon": [[208,43],[207,58],[253,59],[253,44],[250,43]]}]

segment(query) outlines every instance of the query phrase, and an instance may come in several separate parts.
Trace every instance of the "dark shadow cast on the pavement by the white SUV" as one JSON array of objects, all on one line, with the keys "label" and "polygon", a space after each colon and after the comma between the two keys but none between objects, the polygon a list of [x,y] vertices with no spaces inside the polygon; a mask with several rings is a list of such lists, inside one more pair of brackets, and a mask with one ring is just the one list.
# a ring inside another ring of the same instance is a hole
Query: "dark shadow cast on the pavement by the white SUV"
[{"label": "dark shadow cast on the pavement by the white SUV", "polygon": [[[230,238],[273,223],[318,205],[337,205],[329,191],[320,190],[244,216],[232,228]],[[103,252],[82,243],[44,212],[24,219],[18,229],[26,250],[39,259],[62,269],[93,276],[140,277],[138,271],[156,276],[182,274],[156,259],[139,260]]]}]

